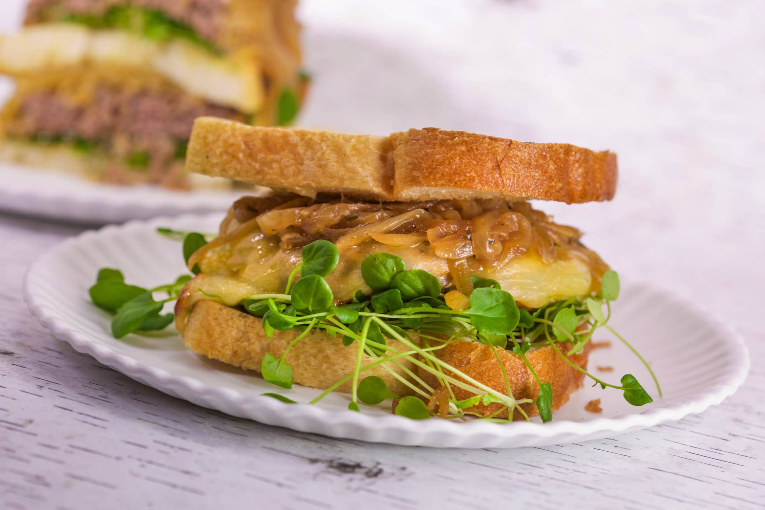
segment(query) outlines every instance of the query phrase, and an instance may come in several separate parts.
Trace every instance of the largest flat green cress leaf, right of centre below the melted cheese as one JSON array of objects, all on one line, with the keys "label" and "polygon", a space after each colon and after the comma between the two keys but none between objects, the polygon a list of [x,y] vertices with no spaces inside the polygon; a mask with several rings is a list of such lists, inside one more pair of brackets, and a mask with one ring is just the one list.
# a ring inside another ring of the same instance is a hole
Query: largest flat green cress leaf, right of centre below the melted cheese
[{"label": "largest flat green cress leaf, right of centre below the melted cheese", "polygon": [[509,335],[518,326],[520,313],[509,292],[478,287],[470,294],[470,308],[464,311],[473,326],[490,335]]}]

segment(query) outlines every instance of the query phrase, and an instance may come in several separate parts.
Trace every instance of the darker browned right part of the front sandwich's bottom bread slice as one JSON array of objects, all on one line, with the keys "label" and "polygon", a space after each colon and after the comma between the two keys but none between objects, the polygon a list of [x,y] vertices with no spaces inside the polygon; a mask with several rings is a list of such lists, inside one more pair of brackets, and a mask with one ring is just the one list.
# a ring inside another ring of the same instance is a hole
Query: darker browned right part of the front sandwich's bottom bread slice
[{"label": "darker browned right part of the front sandwich's bottom bread slice", "polygon": [[[561,352],[566,352],[568,349],[571,349],[571,346],[568,343],[562,343],[559,344],[558,349],[561,349]],[[581,368],[587,369],[589,351],[589,347],[585,346],[584,352],[570,356],[569,359]],[[522,398],[536,400],[537,395],[539,395],[539,384],[521,357],[505,349],[496,349],[496,352],[502,360],[513,398],[516,400],[521,400]],[[494,356],[490,346],[475,342],[453,342],[445,346],[444,349],[438,349],[434,353],[438,356],[438,359],[447,362],[455,369],[464,373],[464,375],[474,378],[496,391],[504,394],[507,393],[500,364],[496,361],[496,356]],[[571,393],[581,387],[584,374],[568,365],[558,356],[552,347],[543,346],[539,349],[529,350],[526,353],[526,358],[529,359],[529,363],[542,382],[551,383],[553,410],[565,404]],[[420,369],[418,375],[434,388],[439,386],[438,380],[429,372]],[[464,400],[474,395],[454,385],[451,388],[457,400]],[[502,406],[503,404],[499,403],[489,405],[478,404],[468,408],[467,411],[474,411],[483,416],[488,416],[498,411]],[[529,416],[539,414],[535,404],[521,404],[521,408]],[[496,414],[495,417],[507,417],[507,411]],[[523,419],[523,416],[516,410],[513,413],[513,420],[519,419]]]}]

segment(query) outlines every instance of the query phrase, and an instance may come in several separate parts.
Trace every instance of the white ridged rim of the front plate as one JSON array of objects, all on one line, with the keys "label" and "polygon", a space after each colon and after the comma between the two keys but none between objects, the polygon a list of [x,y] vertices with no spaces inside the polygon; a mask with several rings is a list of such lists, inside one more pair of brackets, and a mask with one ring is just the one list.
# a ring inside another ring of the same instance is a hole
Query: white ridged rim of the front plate
[{"label": "white ridged rim of the front plate", "polygon": [[[34,317],[37,317],[37,320],[50,330],[57,339],[70,343],[78,352],[86,352],[104,365],[158,391],[184,398],[184,400],[192,401],[194,404],[204,407],[248,417],[264,424],[330,436],[355,437],[373,442],[440,447],[483,447],[483,444],[497,446],[498,443],[512,443],[513,440],[524,436],[531,436],[537,440],[547,440],[564,435],[592,437],[602,433],[621,433],[628,429],[652,427],[666,421],[679,420],[688,414],[698,414],[712,405],[720,404],[725,398],[733,395],[744,383],[750,368],[749,350],[743,337],[732,326],[719,320],[715,315],[705,310],[702,305],[685,299],[675,291],[645,281],[630,281],[629,287],[648,287],[650,290],[666,295],[669,300],[682,304],[693,313],[704,314],[711,324],[729,339],[730,347],[737,350],[734,352],[737,365],[725,372],[721,382],[717,385],[705,388],[704,391],[699,391],[668,406],[652,408],[643,413],[623,414],[617,417],[596,417],[587,421],[558,420],[547,424],[525,421],[513,424],[496,424],[486,421],[470,424],[457,424],[446,420],[412,421],[393,414],[381,416],[347,410],[330,410],[311,404],[285,404],[262,395],[246,396],[233,388],[214,388],[197,378],[173,375],[166,369],[146,365],[138,362],[132,356],[115,352],[97,339],[92,339],[86,333],[80,332],[73,325],[67,323],[67,320],[57,317],[55,310],[50,310],[45,300],[41,299],[41,296],[35,292],[34,287],[39,284],[36,278],[41,268],[44,268],[46,261],[69,249],[72,245],[86,242],[97,236],[129,231],[130,229],[155,227],[158,224],[173,225],[175,222],[210,221],[213,216],[220,217],[220,214],[189,213],[180,216],[161,216],[148,220],[134,219],[122,225],[108,225],[100,229],[88,230],[78,236],[66,239],[52,246],[29,265],[26,274],[24,274],[22,290],[24,300]],[[198,395],[199,398],[190,400],[188,395]],[[303,426],[296,426],[296,421],[302,422]],[[288,422],[290,423],[288,424]],[[330,427],[326,427],[327,424],[330,424]],[[353,430],[353,432],[332,434],[332,429],[338,427],[342,427],[343,430]],[[468,430],[466,427],[469,427],[470,434],[464,433],[465,430]],[[364,434],[365,431],[368,433],[369,430],[377,432],[377,434],[374,437]],[[396,440],[397,435],[404,433],[415,433],[420,439],[425,438],[425,440]],[[438,438],[438,440],[427,440],[428,436]],[[473,436],[483,437],[485,440],[480,446],[474,446],[474,443],[480,443],[480,441],[470,441],[470,437]],[[600,437],[605,436],[601,435]],[[451,443],[444,444],[444,442],[449,441]],[[524,443],[524,445],[526,444],[529,442]],[[516,445],[509,445],[509,447],[513,446]]]}]

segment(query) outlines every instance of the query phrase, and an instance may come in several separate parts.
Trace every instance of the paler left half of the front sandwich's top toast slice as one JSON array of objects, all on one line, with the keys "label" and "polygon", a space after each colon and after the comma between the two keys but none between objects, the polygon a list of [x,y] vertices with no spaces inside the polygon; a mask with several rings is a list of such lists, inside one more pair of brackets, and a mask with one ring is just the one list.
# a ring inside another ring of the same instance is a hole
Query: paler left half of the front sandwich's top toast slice
[{"label": "paler left half of the front sandwich's top toast slice", "polygon": [[188,171],[298,193],[387,197],[390,143],[379,136],[253,127],[200,117],[186,157]]}]

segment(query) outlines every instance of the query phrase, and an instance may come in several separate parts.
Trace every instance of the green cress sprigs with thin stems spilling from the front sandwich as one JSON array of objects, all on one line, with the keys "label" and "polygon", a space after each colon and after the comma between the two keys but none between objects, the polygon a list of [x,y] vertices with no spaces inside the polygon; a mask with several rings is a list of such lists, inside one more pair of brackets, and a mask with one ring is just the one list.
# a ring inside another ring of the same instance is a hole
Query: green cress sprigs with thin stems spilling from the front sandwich
[{"label": "green cress sprigs with thin stems spilling from the front sandwich", "polygon": [[[204,236],[197,232],[171,229],[158,229],[158,232],[172,239],[183,239],[186,261],[210,238],[209,235]],[[630,404],[640,406],[652,402],[653,399],[633,375],[623,375],[621,385],[614,385],[591,375],[568,359],[567,356],[582,352],[594,331],[600,327],[614,333],[640,358],[656,382],[656,388],[661,395],[656,376],[649,365],[622,336],[607,325],[611,313],[610,303],[617,299],[620,291],[619,277],[614,271],[604,273],[601,292],[586,297],[584,302],[571,298],[552,302],[533,312],[519,309],[513,296],[503,291],[497,281],[471,277],[474,291],[469,296],[470,306],[467,307],[468,299],[464,299],[463,307],[467,309],[453,310],[444,299],[438,278],[421,269],[407,270],[404,261],[396,255],[375,253],[364,258],[360,268],[361,275],[365,283],[373,289],[373,294],[365,296],[361,291],[356,291],[353,300],[347,304],[334,304],[334,295],[324,279],[337,267],[340,258],[337,247],[328,241],[314,241],[304,247],[301,258],[301,264],[289,275],[284,294],[251,295],[243,299],[240,305],[252,315],[262,317],[262,327],[269,338],[274,335],[275,330],[295,330],[298,333],[281,356],[277,358],[269,352],[262,359],[263,378],[281,388],[291,388],[294,382],[292,369],[287,361],[288,353],[311,331],[321,330],[330,336],[340,336],[345,346],[356,343],[356,364],[353,372],[327,388],[309,402],[310,404],[321,401],[331,391],[351,381],[351,401],[348,408],[352,411],[360,411],[358,402],[376,405],[393,398],[399,399],[396,403],[396,414],[423,419],[434,414],[429,408],[432,402],[437,401],[436,395],[439,395],[439,398],[448,397],[448,412],[451,417],[461,418],[465,414],[477,414],[469,411],[477,404],[500,404],[496,412],[482,419],[496,421],[494,417],[506,411],[507,420],[512,421],[514,412],[518,411],[528,420],[520,404],[533,402],[542,421],[547,422],[552,420],[552,384],[542,381],[526,356],[530,349],[542,346],[552,347],[568,365],[587,375],[595,385],[623,391],[624,399]],[[198,265],[194,266],[193,271],[194,274],[198,274]],[[179,277],[173,284],[149,290],[126,284],[122,273],[116,269],[103,268],[99,271],[96,284],[90,288],[90,296],[94,304],[115,313],[112,319],[112,333],[117,338],[122,338],[128,333],[168,326],[174,317],[171,313],[161,315],[162,305],[177,298],[181,288],[191,278],[187,274]],[[158,292],[164,292],[168,297],[155,300],[152,293]],[[603,312],[604,305],[607,313]],[[414,336],[422,339],[422,344],[415,341]],[[389,346],[386,339],[396,340],[396,347]],[[506,392],[483,385],[435,356],[434,352],[438,349],[462,340],[490,346],[500,365]],[[570,349],[564,354],[558,345],[570,346]],[[519,356],[529,369],[539,387],[535,401],[529,398],[513,398],[500,349]],[[364,355],[371,356],[374,361],[362,365]],[[403,360],[421,371],[434,375],[443,388],[432,388],[403,365]],[[399,398],[399,395],[389,390],[382,378],[373,375],[363,377],[363,372],[378,365],[408,386],[416,395]],[[444,388],[448,395],[444,395]],[[473,396],[457,400],[454,397],[454,388],[461,388]],[[284,395],[263,395],[294,403]],[[426,405],[427,401],[431,401],[431,404]],[[445,406],[446,401],[441,402]],[[445,409],[442,408],[442,412]]]}]

